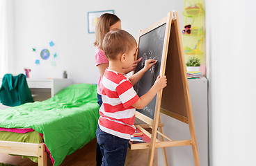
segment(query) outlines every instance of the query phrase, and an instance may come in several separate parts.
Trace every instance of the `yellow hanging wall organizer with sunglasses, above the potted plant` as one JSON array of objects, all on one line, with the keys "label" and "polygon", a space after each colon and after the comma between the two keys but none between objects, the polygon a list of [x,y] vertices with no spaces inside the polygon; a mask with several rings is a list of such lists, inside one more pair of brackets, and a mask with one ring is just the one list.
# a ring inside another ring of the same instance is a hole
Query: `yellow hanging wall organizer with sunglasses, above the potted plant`
[{"label": "yellow hanging wall organizer with sunglasses, above the potted plant", "polygon": [[185,62],[190,57],[198,57],[205,62],[205,9],[203,0],[184,0],[182,43]]}]

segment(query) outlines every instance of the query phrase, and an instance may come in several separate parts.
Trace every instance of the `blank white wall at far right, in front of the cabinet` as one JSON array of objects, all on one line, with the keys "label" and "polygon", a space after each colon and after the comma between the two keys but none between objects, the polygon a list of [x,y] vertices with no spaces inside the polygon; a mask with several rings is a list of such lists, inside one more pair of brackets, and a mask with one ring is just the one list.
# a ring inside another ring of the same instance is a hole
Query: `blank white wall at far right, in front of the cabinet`
[{"label": "blank white wall at far right, in front of the cabinet", "polygon": [[207,1],[210,163],[255,165],[255,1]]}]

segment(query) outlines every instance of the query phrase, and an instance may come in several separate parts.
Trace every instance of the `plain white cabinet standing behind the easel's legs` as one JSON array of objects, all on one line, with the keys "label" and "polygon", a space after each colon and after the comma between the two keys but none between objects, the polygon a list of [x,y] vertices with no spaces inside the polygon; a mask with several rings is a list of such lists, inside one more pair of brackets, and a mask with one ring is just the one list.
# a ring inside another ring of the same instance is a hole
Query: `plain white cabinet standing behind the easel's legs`
[{"label": "plain white cabinet standing behind the easel's legs", "polygon": [[[208,165],[208,100],[207,100],[207,79],[188,80],[191,107],[195,124],[195,136],[198,143],[198,155],[200,166]],[[164,124],[163,133],[173,140],[190,140],[189,125],[175,120],[163,113],[160,115]],[[159,166],[165,165],[163,152],[159,148]],[[168,165],[192,166],[194,165],[193,151],[191,146],[166,147]]]}]

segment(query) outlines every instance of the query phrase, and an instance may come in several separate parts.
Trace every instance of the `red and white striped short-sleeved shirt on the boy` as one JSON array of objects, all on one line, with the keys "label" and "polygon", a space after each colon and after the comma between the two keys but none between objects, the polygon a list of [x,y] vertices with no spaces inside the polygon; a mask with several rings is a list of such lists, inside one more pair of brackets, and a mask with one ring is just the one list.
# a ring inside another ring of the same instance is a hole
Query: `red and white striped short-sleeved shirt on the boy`
[{"label": "red and white striped short-sleeved shirt on the boy", "polygon": [[114,136],[129,140],[134,133],[135,108],[139,99],[127,76],[106,68],[102,79],[102,107],[99,128]]}]

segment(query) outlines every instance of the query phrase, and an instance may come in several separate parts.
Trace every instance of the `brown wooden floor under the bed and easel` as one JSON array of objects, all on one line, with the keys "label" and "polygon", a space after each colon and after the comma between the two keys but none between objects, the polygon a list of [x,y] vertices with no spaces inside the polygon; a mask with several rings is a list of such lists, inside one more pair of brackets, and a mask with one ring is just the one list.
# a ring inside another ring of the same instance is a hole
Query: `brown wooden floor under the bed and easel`
[{"label": "brown wooden floor under the bed and easel", "polygon": [[[61,166],[95,166],[96,165],[96,138],[91,140],[87,145],[82,147],[81,149],[75,151],[73,154],[66,156],[65,160]],[[147,157],[148,157],[148,149],[141,150],[130,150],[127,151],[127,158],[125,162],[125,166],[146,166],[147,165]],[[156,150],[157,152],[157,150]],[[157,153],[156,153],[157,154]],[[51,166],[51,160],[48,157],[48,166]],[[37,163],[33,163],[33,161],[28,158],[22,158],[20,156],[11,156],[8,154],[0,154],[0,163],[8,163],[13,165],[20,166],[37,166]],[[157,165],[157,155],[155,155],[154,166]]]}]

